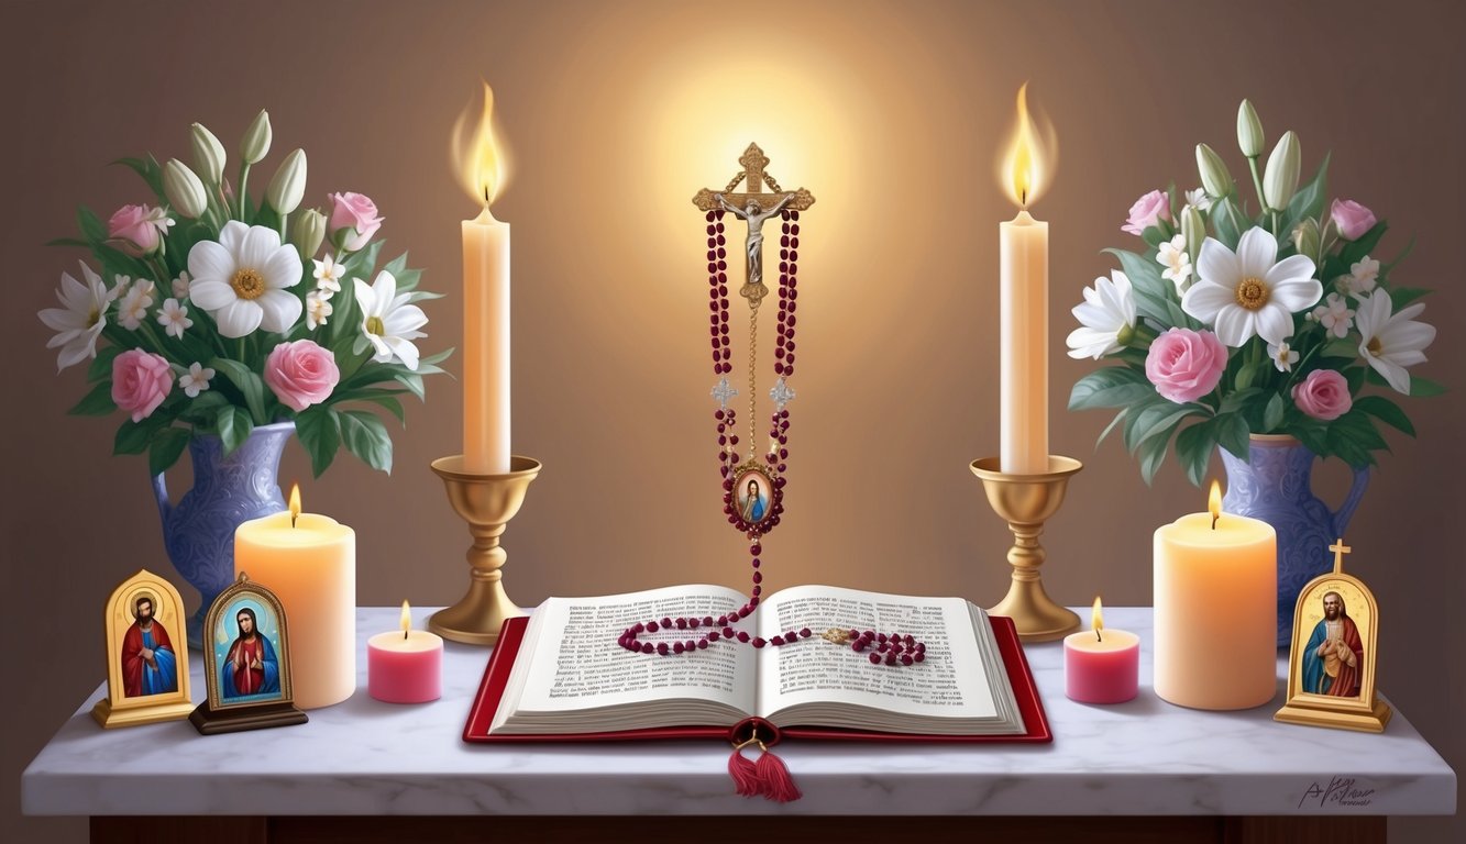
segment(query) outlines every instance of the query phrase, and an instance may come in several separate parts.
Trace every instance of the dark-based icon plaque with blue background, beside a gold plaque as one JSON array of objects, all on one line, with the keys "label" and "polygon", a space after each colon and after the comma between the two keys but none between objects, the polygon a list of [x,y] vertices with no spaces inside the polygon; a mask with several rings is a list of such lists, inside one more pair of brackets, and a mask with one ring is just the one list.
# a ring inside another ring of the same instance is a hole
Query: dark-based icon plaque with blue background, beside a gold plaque
[{"label": "dark-based icon plaque with blue background, beside a gold plaque", "polygon": [[204,623],[208,699],[189,721],[199,733],[239,733],[305,724],[292,702],[290,639],[276,593],[239,573],[218,593]]}]

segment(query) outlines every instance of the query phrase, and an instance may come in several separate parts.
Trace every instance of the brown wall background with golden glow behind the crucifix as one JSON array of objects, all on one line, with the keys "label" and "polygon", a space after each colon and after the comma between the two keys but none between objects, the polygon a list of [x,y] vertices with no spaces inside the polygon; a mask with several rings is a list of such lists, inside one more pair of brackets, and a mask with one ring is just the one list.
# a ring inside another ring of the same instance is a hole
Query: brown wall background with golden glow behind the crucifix
[{"label": "brown wall background with golden glow behind the crucifix", "polygon": [[[1382,612],[1380,687],[1460,771],[1466,634],[1462,363],[1466,328],[1463,15],[1393,3],[18,3],[0,12],[9,265],[0,349],[6,695],[4,813],[21,834],[81,841],[76,819],[16,819],[19,775],[104,677],[100,610],[141,566],[172,573],[135,457],[110,457],[117,418],[69,418],[50,306],[76,204],[106,217],[144,198],[129,154],[188,158],[186,129],[233,147],[267,107],[274,152],[305,147],[308,202],[361,190],[391,253],[456,296],[457,221],[476,212],[447,139],[478,78],[498,94],[513,179],[494,205],[515,229],[515,450],[544,462],[506,547],[520,604],[679,582],[746,583],[720,517],[705,365],[701,218],[758,141],[784,186],[808,186],[800,366],[789,513],[767,545],[771,588],[828,582],[991,604],[1006,530],[968,463],[997,451],[997,223],[1013,215],[992,161],[1026,79],[1061,144],[1038,204],[1051,255],[1051,443],[1086,467],[1045,538],[1067,604],[1151,601],[1151,533],[1202,506],[1174,462],[1146,488],[1102,413],[1063,410],[1091,365],[1063,355],[1079,290],[1113,264],[1130,202],[1198,183],[1207,141],[1234,173],[1237,101],[1271,142],[1302,136],[1305,170],[1333,149],[1331,193],[1418,243],[1399,280],[1437,290],[1419,371],[1451,385],[1407,401],[1419,440],[1391,435],[1349,539]],[[233,155],[233,151],[230,152]],[[428,306],[428,352],[457,346],[450,296]],[[767,360],[768,350],[764,350]],[[457,368],[457,360],[450,360]],[[761,378],[767,388],[767,366]],[[452,602],[466,530],[430,460],[459,451],[454,381],[430,380],[394,432],[396,469],[349,456],[320,481],[298,444],[281,479],[358,530],[366,605]],[[1337,463],[1337,462],[1336,462]],[[1214,463],[1220,473],[1220,463]],[[173,478],[174,494],[188,484]],[[1337,501],[1341,466],[1318,491]],[[853,494],[884,489],[881,495]],[[627,506],[630,495],[632,506]],[[185,598],[196,601],[179,582]],[[1459,840],[1456,819],[1406,819],[1399,840]]]}]

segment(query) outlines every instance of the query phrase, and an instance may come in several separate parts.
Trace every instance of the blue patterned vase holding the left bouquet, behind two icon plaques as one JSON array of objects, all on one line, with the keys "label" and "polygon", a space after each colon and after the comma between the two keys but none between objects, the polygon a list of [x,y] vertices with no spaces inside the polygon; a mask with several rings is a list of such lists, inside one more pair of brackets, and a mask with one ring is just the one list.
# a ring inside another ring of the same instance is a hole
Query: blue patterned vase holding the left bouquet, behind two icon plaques
[{"label": "blue patterned vase holding the left bouquet, behind two icon plaques", "polygon": [[276,475],[292,434],[295,422],[261,425],[227,456],[218,437],[194,437],[188,444],[194,488],[177,504],[169,498],[163,475],[152,476],[169,560],[204,599],[188,620],[191,648],[204,642],[204,617],[235,580],[235,528],[284,510]]}]

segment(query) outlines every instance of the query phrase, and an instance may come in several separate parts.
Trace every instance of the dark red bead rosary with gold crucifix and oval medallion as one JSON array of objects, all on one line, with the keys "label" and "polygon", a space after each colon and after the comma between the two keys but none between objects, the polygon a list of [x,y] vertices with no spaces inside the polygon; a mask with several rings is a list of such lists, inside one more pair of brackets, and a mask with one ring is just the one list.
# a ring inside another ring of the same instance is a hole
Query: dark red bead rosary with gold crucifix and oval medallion
[{"label": "dark red bead rosary with gold crucifix and oval medallion", "polygon": [[[814,205],[815,198],[809,190],[784,192],[764,167],[768,158],[758,144],[749,144],[743,157],[739,158],[743,169],[729,182],[723,193],[702,189],[692,202],[705,211],[708,234],[708,336],[712,346],[712,374],[718,375],[718,382],[712,388],[712,397],[718,401],[718,409],[712,413],[718,432],[718,472],[723,476],[723,513],[729,525],[736,528],[749,541],[751,566],[754,567],[754,586],[748,602],[734,612],[726,615],[705,615],[702,618],[660,618],[638,621],[620,634],[622,648],[639,654],[658,654],[663,656],[673,654],[690,654],[707,649],[710,645],[729,639],[754,648],[781,648],[793,645],[800,639],[809,639],[814,633],[803,627],[787,630],[771,639],[749,636],[745,630],[734,630],[733,624],[748,618],[758,607],[762,592],[764,574],[759,571],[759,554],[762,554],[762,538],[773,530],[784,511],[784,469],[789,460],[789,401],[795,397],[787,378],[795,374],[795,328],[798,318],[795,312],[799,305],[798,274],[799,274],[799,211]],[[739,182],[746,179],[746,193],[732,193]],[[764,193],[764,186],[773,193]],[[765,204],[777,198],[771,205]],[[746,275],[739,295],[748,299],[748,448],[749,459],[739,463],[737,412],[729,406],[729,399],[737,396],[737,390],[729,384],[727,374],[733,371],[732,349],[729,349],[729,287],[727,287],[727,251],[723,232],[724,214],[733,214],[748,223],[746,240]],[[764,221],[778,215],[781,220],[778,237],[778,322],[774,340],[774,375],[777,381],[768,391],[774,401],[774,413],[770,416],[768,450],[764,460],[752,456],[755,443],[755,423],[758,407],[756,360],[758,360],[758,309],[764,297],[768,296],[768,286],[764,284]],[[676,632],[679,639],[661,640],[655,645],[644,642],[644,633]],[[680,636],[690,636],[682,639]],[[918,642],[915,636],[897,632],[877,633],[875,630],[856,630],[831,627],[819,634],[819,639],[834,645],[849,645],[856,654],[869,651],[872,664],[910,665],[927,658],[927,645]]]}]

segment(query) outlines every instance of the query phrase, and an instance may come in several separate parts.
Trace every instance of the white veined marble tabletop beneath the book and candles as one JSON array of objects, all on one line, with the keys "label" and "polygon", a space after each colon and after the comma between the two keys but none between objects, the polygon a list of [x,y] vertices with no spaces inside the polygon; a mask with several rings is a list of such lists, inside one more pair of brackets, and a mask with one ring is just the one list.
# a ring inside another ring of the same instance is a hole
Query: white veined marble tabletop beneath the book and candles
[{"label": "white veined marble tabletop beneath the book and candles", "polygon": [[[1138,633],[1141,695],[1117,706],[1064,697],[1060,643],[1028,645],[1053,744],[787,741],[803,799],[733,793],[720,741],[484,746],[462,740],[488,651],[449,643],[444,695],[427,705],[366,695],[365,642],[396,608],[358,611],[356,693],[309,724],[199,736],[188,721],[103,730],[76,709],[22,777],[28,815],[1451,815],[1456,774],[1396,712],[1382,734],[1160,700],[1151,611],[1105,608]],[[419,618],[425,612],[419,614]],[[204,697],[192,661],[194,697]],[[1283,675],[1283,659],[1278,664]],[[1341,794],[1352,794],[1340,800]]]}]

